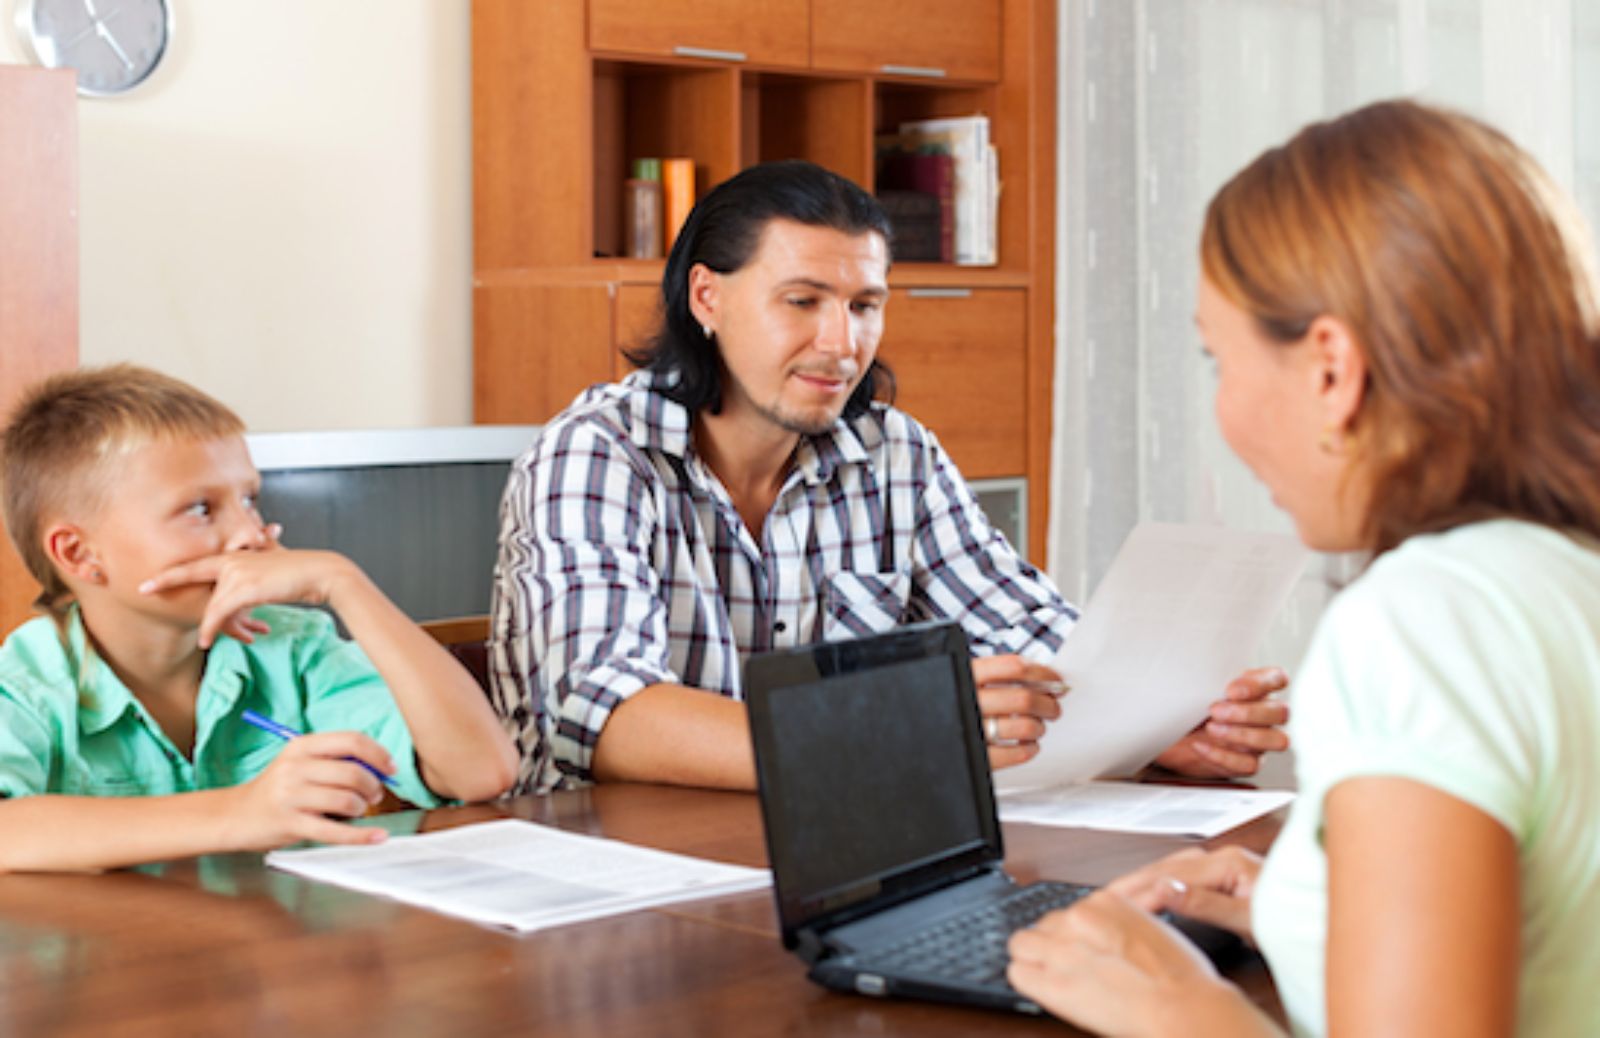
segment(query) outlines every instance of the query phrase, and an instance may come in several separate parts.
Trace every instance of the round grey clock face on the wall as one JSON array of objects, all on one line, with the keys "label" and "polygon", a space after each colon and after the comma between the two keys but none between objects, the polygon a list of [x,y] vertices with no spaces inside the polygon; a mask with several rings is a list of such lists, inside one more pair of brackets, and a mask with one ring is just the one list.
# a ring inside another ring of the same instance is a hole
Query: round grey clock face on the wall
[{"label": "round grey clock face on the wall", "polygon": [[171,16],[166,0],[22,0],[16,24],[40,64],[77,69],[78,93],[104,98],[155,70]]}]

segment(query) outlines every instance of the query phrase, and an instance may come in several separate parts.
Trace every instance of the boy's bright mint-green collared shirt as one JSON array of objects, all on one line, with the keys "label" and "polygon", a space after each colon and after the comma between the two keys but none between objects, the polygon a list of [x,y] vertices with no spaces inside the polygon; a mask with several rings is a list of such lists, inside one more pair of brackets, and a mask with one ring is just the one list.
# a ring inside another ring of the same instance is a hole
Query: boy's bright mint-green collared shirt
[{"label": "boy's bright mint-green collared shirt", "polygon": [[360,731],[394,757],[394,792],[440,803],[424,785],[405,718],[366,654],[317,609],[262,606],[272,632],[218,638],[195,701],[194,758],[166,737],[86,643],[77,609],[18,627],[0,646],[0,796],[152,796],[238,785],[283,750],[242,720],[254,710],[302,733]]}]

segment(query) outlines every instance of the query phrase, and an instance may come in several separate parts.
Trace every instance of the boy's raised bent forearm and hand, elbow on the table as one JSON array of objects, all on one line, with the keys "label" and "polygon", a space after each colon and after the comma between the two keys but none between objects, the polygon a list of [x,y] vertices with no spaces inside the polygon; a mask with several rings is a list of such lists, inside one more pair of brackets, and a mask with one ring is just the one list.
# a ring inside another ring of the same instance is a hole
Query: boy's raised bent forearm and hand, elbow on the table
[{"label": "boy's raised bent forearm and hand, elbow on the table", "polygon": [[213,585],[200,622],[202,646],[211,645],[229,617],[258,605],[333,608],[400,707],[429,788],[458,800],[488,800],[510,787],[515,750],[483,689],[350,560],[288,549],[230,552],[174,566],[141,590],[186,584]]}]

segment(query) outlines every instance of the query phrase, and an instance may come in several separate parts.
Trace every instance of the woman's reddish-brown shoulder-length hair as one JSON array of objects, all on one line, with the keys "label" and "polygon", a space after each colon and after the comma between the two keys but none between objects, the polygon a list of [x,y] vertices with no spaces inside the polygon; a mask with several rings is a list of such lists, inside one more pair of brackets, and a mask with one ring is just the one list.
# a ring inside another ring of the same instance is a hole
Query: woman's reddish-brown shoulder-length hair
[{"label": "woman's reddish-brown shoulder-length hair", "polygon": [[1408,101],[1307,126],[1218,192],[1200,258],[1270,339],[1352,329],[1366,549],[1493,517],[1600,537],[1594,259],[1504,134]]}]

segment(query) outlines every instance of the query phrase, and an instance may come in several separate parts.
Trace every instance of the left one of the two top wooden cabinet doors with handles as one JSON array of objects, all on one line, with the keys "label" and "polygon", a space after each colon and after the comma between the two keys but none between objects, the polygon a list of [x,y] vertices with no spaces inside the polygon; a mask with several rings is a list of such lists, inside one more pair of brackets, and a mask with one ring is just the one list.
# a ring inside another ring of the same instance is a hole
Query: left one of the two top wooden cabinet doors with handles
[{"label": "left one of the two top wooden cabinet doors with handles", "polygon": [[589,48],[802,69],[810,0],[589,0]]}]

